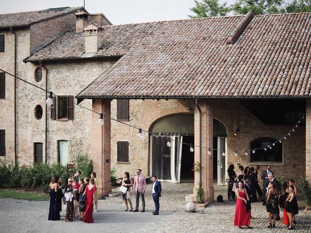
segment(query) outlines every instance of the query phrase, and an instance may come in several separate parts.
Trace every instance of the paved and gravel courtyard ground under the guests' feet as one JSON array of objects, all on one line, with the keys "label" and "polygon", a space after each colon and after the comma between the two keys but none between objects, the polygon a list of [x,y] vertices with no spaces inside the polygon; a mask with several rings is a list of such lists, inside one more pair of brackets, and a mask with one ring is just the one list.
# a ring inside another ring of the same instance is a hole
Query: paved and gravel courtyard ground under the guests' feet
[{"label": "paved and gravel courtyard ground under the guests' feet", "polygon": [[[275,229],[267,228],[267,213],[260,202],[252,204],[252,230],[233,227],[235,203],[225,200],[225,203],[213,202],[210,206],[197,209],[196,213],[184,211],[185,195],[190,194],[193,183],[162,183],[162,198],[160,198],[160,214],[153,216],[154,209],[151,196],[151,184],[146,193],[146,212],[125,212],[121,196],[99,201],[99,211],[94,213],[94,224],[86,224],[79,220],[66,223],[48,221],[49,201],[26,201],[0,199],[0,232],[12,233],[42,233],[42,232],[106,232],[106,233],[265,233],[291,232],[281,221],[277,221]],[[226,197],[226,187],[215,186],[215,199],[221,194]],[[135,206],[135,197],[133,196]],[[62,213],[64,215],[64,212]],[[282,217],[282,212],[281,212]],[[68,230],[66,230],[68,229]],[[311,232],[311,216],[305,216],[299,209],[296,232]]]}]

